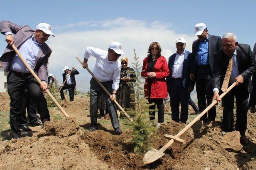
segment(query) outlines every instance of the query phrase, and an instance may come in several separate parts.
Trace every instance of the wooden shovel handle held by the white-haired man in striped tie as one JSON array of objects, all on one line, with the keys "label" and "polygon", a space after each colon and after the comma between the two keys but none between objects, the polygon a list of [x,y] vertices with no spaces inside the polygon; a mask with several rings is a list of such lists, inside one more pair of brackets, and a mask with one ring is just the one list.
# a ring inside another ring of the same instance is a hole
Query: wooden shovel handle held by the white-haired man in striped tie
[{"label": "wooden shovel handle held by the white-haired man in striped tie", "polygon": [[[234,82],[231,86],[229,86],[229,88],[227,89],[226,92],[222,93],[220,95],[220,99],[223,98],[232,88],[234,88],[234,86],[236,86],[236,82]],[[192,120],[188,125],[186,125],[186,127],[184,127],[177,135],[175,135],[176,137],[180,137],[184,132],[186,132],[192,125],[194,125],[194,123],[196,123],[208,110],[210,110],[215,104],[217,103],[216,100],[214,100],[214,102],[212,102],[212,104],[210,104],[210,106],[206,107],[206,109],[204,109],[204,111],[202,111],[202,113],[200,113],[194,120]],[[171,139],[168,143],[166,143],[160,150],[162,152],[164,152],[164,150],[166,150],[168,147],[170,147],[172,145],[172,143],[174,143],[174,140]],[[159,151],[160,151],[159,150]]]}]

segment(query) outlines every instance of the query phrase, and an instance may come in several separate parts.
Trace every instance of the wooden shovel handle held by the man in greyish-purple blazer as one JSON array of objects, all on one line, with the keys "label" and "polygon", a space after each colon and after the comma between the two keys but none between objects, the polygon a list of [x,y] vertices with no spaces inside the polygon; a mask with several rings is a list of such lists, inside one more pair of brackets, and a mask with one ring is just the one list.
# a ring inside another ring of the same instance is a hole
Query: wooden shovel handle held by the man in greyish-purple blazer
[{"label": "wooden shovel handle held by the man in greyish-purple blazer", "polygon": [[[24,58],[22,57],[21,53],[18,51],[18,49],[15,47],[15,45],[12,45],[12,48],[14,49],[14,51],[18,54],[18,56],[20,57],[21,61],[25,64],[25,66],[28,68],[28,70],[30,71],[30,73],[34,76],[34,78],[36,78],[36,80],[38,81],[38,83],[41,85],[42,81],[40,80],[40,78],[38,78],[38,76],[36,75],[36,73],[32,70],[32,68],[30,68],[30,66],[28,65],[28,63],[24,60]],[[52,101],[54,102],[54,104],[56,104],[56,106],[60,109],[60,111],[64,114],[65,117],[69,117],[68,114],[66,113],[66,111],[60,106],[60,104],[58,104],[57,100],[52,96],[52,94],[50,93],[50,91],[48,89],[46,89],[46,93],[48,94],[48,96],[50,96],[50,98],[52,99]]]}]

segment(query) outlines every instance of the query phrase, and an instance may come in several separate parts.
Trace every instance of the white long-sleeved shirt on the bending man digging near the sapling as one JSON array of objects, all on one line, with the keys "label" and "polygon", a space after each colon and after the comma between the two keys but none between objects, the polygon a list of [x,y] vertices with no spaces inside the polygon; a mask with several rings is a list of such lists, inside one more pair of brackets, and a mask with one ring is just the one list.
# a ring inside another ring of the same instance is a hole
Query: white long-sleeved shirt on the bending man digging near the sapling
[{"label": "white long-sleeved shirt on the bending man digging near the sapling", "polygon": [[96,64],[93,71],[94,76],[100,82],[113,80],[112,89],[118,90],[121,71],[120,60],[108,61],[108,51],[87,47],[84,52],[84,58],[89,59],[90,56],[96,58]]}]

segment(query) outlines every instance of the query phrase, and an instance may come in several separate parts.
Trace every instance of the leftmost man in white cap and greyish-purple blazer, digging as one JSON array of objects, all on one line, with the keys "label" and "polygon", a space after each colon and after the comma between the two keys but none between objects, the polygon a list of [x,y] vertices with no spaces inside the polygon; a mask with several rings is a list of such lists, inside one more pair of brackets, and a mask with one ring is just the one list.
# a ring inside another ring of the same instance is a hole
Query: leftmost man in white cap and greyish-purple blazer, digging
[{"label": "leftmost man in white cap and greyish-purple blazer, digging", "polygon": [[[46,99],[42,90],[47,89],[47,63],[52,50],[45,41],[49,36],[53,35],[51,25],[47,23],[39,23],[36,31],[28,27],[28,25],[20,26],[10,21],[0,22],[1,33],[6,35],[5,40],[8,43],[4,54],[0,57],[0,62],[6,71],[8,94],[10,96],[10,126],[14,138],[20,138],[20,117],[23,114],[23,98],[25,87],[35,99],[36,108],[41,116],[41,120],[50,121],[50,115],[47,108]],[[15,36],[12,36],[12,33]],[[14,44],[28,65],[38,75],[42,84],[40,85],[36,79],[30,74],[26,66],[22,63],[18,55],[12,49]],[[41,90],[41,89],[42,90]]]}]

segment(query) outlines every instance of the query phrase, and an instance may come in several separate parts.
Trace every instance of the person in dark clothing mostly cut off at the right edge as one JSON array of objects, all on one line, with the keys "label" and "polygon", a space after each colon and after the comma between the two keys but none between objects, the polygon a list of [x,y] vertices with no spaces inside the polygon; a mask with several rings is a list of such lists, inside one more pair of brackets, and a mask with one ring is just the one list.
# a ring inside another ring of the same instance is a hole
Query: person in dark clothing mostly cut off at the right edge
[{"label": "person in dark clothing mostly cut off at the right edge", "polygon": [[[252,56],[256,59],[256,43],[254,44]],[[252,76],[252,92],[250,94],[250,100],[249,100],[249,108],[251,113],[256,112],[255,104],[256,104],[256,74]]]}]

